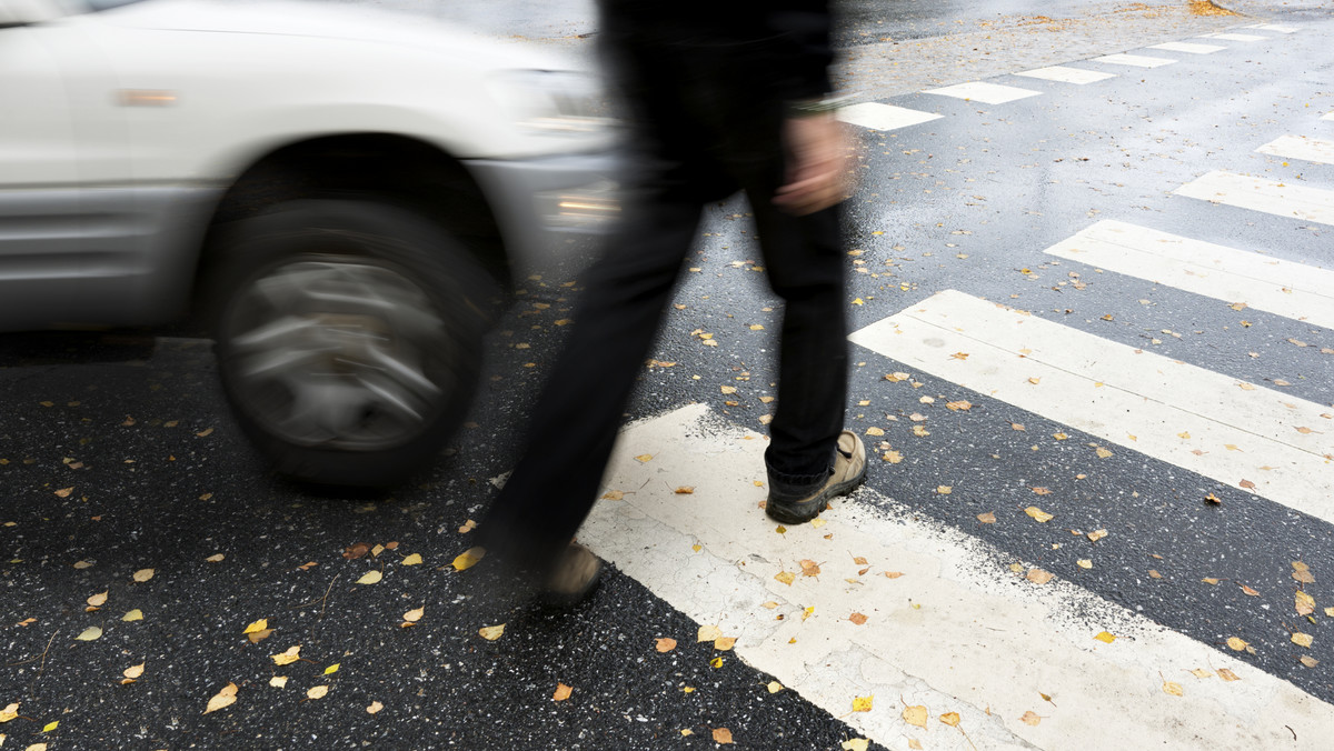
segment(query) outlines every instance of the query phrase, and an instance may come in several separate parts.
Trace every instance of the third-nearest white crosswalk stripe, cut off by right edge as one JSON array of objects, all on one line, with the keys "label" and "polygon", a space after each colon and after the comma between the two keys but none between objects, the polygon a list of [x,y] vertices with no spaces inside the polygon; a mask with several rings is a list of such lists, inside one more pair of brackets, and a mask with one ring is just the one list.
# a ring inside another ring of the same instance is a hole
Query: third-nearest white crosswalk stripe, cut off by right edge
[{"label": "third-nearest white crosswalk stripe, cut off by right edge", "polygon": [[1113,220],[1046,253],[1334,329],[1330,269]]}]

